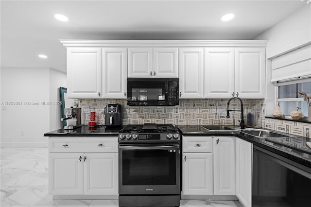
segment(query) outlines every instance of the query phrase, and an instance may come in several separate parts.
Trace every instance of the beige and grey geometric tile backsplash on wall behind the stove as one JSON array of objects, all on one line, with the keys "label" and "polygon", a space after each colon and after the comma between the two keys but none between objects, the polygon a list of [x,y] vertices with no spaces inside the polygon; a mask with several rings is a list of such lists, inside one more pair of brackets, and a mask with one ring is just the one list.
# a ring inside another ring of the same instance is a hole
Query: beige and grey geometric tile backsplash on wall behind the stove
[{"label": "beige and grey geometric tile backsplash on wall behind the stove", "polygon": [[[79,107],[87,105],[97,112],[97,123],[104,124],[104,107],[107,104],[121,104],[123,124],[203,124],[236,125],[241,120],[240,111],[230,111],[226,118],[227,99],[203,100],[183,99],[176,106],[128,106],[123,99],[80,99]],[[264,100],[243,99],[244,121],[252,113],[255,126],[260,127],[264,119]],[[240,102],[232,100],[230,109],[240,109]],[[89,114],[82,114],[82,124],[87,124]]]}]

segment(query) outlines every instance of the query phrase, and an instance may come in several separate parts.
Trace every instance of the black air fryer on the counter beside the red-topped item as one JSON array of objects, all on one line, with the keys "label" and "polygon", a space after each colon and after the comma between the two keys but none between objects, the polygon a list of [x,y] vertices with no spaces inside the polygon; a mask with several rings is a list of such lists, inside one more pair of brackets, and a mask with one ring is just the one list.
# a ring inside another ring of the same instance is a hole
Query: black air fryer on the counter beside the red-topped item
[{"label": "black air fryer on the counter beside the red-topped item", "polygon": [[104,108],[105,125],[106,126],[121,126],[122,111],[120,104],[108,104]]}]

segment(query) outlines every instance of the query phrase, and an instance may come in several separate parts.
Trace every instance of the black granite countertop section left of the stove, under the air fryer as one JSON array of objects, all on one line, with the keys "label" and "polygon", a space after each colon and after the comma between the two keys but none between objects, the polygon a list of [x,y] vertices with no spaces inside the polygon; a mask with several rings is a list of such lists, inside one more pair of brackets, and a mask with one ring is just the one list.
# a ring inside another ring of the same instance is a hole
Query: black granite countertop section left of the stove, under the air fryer
[{"label": "black granite countertop section left of the stove, under the air fryer", "polygon": [[114,137],[118,136],[122,126],[96,126],[89,128],[88,125],[82,125],[73,130],[57,129],[52,132],[45,133],[44,137]]}]

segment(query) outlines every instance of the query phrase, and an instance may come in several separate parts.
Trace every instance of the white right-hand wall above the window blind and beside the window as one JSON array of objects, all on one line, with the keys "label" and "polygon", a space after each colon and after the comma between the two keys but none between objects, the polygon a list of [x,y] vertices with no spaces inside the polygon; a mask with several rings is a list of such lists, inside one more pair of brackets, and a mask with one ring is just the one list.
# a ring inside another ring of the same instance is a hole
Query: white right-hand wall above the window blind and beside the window
[{"label": "white right-hand wall above the window blind and beside the window", "polygon": [[[269,40],[266,58],[290,51],[311,41],[311,4],[306,4],[254,39]],[[271,61],[266,61],[266,115],[272,115],[276,106],[276,86],[271,80]]]}]

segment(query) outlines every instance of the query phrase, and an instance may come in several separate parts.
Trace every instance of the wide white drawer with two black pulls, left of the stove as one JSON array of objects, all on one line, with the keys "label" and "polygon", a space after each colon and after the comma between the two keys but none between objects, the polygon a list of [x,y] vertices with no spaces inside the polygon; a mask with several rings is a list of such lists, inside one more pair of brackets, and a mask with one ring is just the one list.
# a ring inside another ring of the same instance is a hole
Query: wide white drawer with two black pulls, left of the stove
[{"label": "wide white drawer with two black pulls, left of the stove", "polygon": [[118,137],[49,138],[50,153],[117,153]]}]

